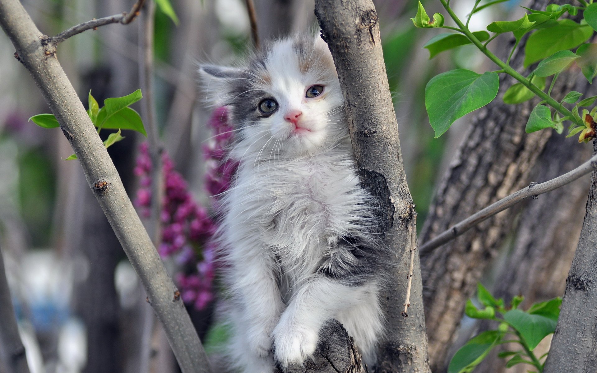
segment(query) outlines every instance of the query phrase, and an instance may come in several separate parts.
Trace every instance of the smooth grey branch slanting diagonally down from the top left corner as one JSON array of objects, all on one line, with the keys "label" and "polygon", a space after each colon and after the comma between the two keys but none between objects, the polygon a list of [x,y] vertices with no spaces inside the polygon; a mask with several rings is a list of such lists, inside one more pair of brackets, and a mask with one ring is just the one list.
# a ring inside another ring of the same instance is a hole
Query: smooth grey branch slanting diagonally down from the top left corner
[{"label": "smooth grey branch slanting diagonally down from the top left corner", "polygon": [[29,70],[78,156],[91,190],[147,291],[147,300],[162,323],[182,371],[210,372],[201,341],[180,297],[176,297],[176,286],[59,61],[48,51],[48,45],[42,44],[42,33],[18,0],[0,0],[0,26],[13,42],[20,62]]}]

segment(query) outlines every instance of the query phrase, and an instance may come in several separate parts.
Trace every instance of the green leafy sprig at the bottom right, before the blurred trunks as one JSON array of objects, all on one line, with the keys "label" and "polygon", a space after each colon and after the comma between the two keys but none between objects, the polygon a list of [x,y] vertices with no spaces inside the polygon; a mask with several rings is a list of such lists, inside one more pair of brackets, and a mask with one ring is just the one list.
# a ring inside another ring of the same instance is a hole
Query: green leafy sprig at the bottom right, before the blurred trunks
[{"label": "green leafy sprig at the bottom right, before the blurred trunks", "polygon": [[[479,283],[477,299],[480,304],[485,306],[485,310],[477,309],[469,300],[465,307],[466,315],[496,321],[498,322],[497,328],[482,332],[464,344],[452,357],[448,373],[472,372],[493,347],[507,341],[518,341],[522,346],[522,350],[504,351],[498,354],[502,359],[509,359],[506,363],[508,368],[524,363],[534,366],[537,372],[542,372],[543,363],[540,360],[545,355],[537,358],[533,354],[533,350],[543,338],[555,331],[559,307],[562,304],[561,298],[533,304],[525,312],[518,309],[523,297],[514,297],[509,307],[506,307],[503,299],[496,299]],[[488,309],[491,309],[491,312],[487,312]],[[515,335],[515,340],[512,340],[512,335]]]}]

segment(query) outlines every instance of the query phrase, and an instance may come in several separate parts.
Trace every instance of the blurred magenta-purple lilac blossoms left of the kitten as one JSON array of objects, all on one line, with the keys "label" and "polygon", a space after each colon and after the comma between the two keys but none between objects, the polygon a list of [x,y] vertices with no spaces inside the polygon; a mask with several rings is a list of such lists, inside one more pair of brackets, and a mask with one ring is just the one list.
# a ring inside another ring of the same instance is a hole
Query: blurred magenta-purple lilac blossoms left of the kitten
[{"label": "blurred magenta-purple lilac blossoms left of the kitten", "polygon": [[[208,162],[205,188],[214,198],[214,211],[219,210],[217,196],[230,187],[236,162],[227,159],[232,141],[232,127],[227,124],[226,108],[216,109],[210,118],[215,136],[204,147]],[[186,181],[174,170],[167,153],[162,153],[165,193],[162,201],[162,242],[158,252],[162,258],[174,258],[180,267],[176,274],[181,297],[186,304],[204,309],[213,300],[216,267],[215,247],[211,238],[217,225],[204,206],[197,204],[187,189]],[[151,205],[152,162],[147,143],[140,146],[135,174],[139,177],[136,205],[143,217],[149,217]]]}]

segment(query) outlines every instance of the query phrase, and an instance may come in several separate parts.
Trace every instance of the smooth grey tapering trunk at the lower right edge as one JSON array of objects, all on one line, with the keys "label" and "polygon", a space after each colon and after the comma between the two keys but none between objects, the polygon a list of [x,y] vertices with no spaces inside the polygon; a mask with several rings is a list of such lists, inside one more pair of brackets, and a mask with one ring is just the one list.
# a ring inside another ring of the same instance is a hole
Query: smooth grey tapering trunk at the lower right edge
[{"label": "smooth grey tapering trunk at the lower right edge", "polygon": [[597,371],[597,172],[586,206],[545,373]]}]

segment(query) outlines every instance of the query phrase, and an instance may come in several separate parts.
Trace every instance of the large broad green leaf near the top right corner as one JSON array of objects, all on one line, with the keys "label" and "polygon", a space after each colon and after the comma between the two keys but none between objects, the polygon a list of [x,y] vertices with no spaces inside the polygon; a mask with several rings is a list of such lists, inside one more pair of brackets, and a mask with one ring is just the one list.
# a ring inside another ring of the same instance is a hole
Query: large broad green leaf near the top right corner
[{"label": "large broad green leaf near the top right corner", "polygon": [[573,20],[564,19],[556,23],[555,26],[537,30],[529,36],[525,46],[524,67],[557,51],[574,48],[593,35],[593,29]]}]

